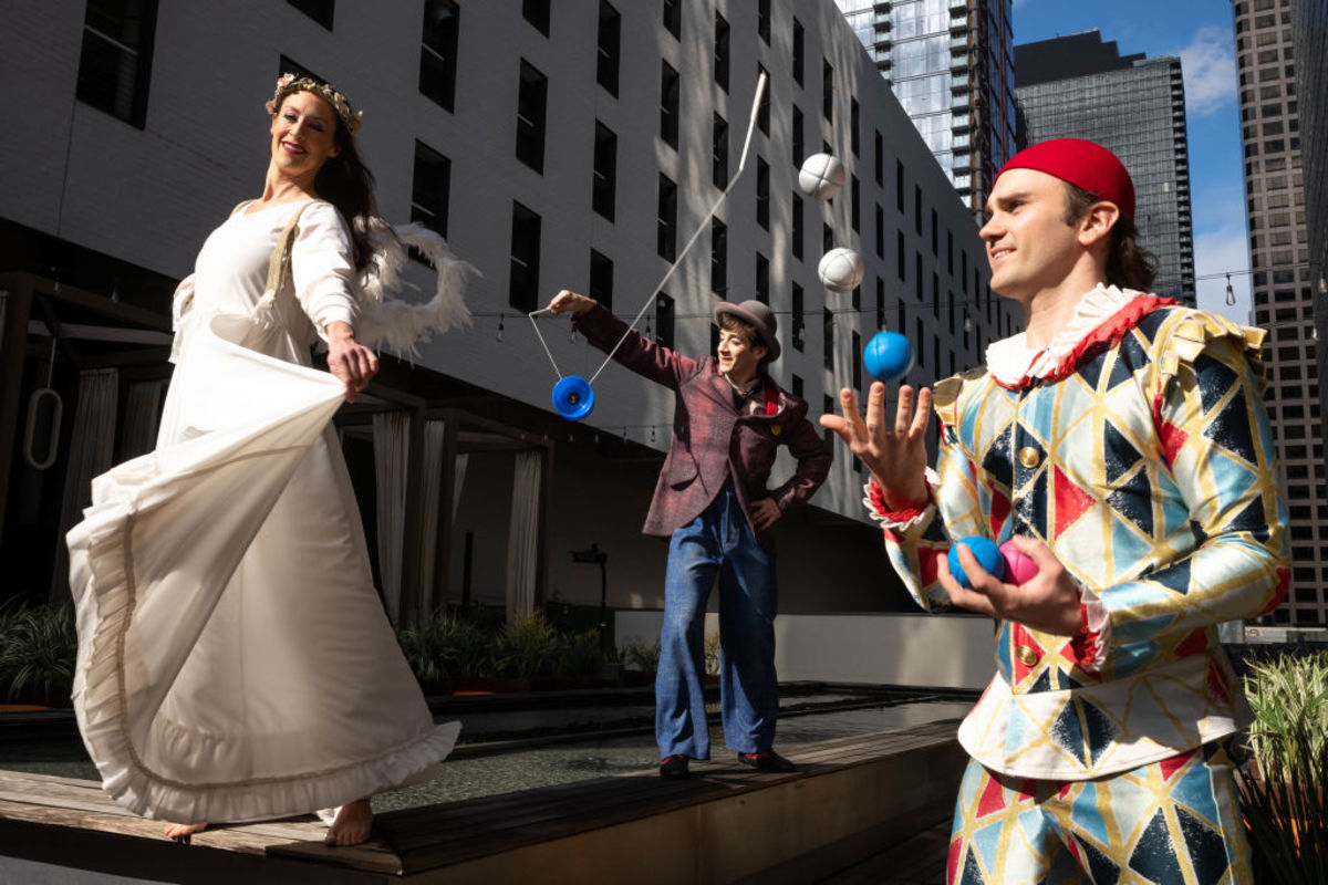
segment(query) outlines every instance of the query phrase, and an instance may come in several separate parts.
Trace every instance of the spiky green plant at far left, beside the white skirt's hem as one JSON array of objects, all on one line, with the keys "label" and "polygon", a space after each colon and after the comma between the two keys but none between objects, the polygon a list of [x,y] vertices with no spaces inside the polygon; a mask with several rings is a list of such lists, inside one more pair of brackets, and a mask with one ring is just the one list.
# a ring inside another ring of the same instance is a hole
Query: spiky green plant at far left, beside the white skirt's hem
[{"label": "spiky green plant at far left, beside the white skirt's hem", "polygon": [[69,706],[77,657],[72,605],[0,609],[0,691],[7,701]]}]

